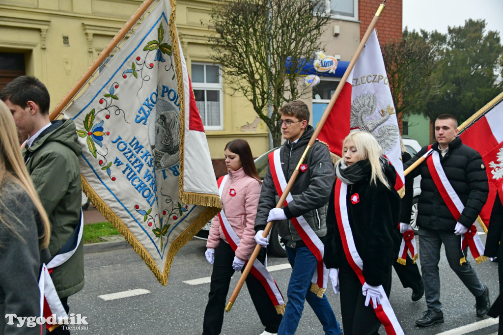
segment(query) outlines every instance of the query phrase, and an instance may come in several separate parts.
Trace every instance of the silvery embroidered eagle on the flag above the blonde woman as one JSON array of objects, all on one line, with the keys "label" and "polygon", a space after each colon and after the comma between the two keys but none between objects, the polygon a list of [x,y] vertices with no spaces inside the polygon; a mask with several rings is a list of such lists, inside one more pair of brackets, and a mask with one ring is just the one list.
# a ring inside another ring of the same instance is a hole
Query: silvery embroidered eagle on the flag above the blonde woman
[{"label": "silvery embroidered eagle on the flag above the blonde woman", "polygon": [[400,130],[394,125],[382,125],[395,113],[391,106],[381,110],[382,118],[367,120],[367,116],[373,115],[376,109],[377,95],[375,93],[362,94],[356,97],[351,103],[351,129],[359,128],[371,133],[381,146],[384,154],[391,150],[397,142]]}]

